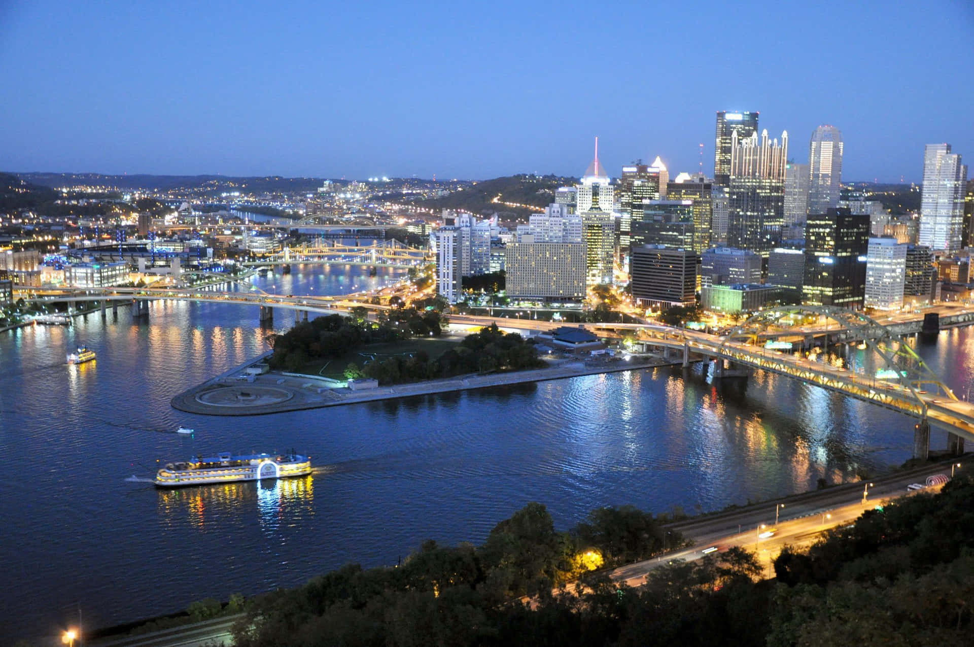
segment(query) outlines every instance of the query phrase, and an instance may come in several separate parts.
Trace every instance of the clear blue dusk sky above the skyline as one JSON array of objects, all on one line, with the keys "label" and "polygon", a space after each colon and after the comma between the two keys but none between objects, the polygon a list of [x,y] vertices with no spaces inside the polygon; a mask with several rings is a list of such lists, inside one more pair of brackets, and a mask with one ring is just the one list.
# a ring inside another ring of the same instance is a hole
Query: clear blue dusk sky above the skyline
[{"label": "clear blue dusk sky above the skyline", "polygon": [[0,170],[364,178],[578,175],[599,136],[713,172],[758,110],[843,180],[974,163],[974,3],[0,0]]}]

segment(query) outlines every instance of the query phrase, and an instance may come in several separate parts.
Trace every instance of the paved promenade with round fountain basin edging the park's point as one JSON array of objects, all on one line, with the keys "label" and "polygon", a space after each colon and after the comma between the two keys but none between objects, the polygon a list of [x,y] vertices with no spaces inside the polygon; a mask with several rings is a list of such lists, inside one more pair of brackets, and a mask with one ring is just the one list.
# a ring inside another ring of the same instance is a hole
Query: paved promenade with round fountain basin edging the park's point
[{"label": "paved promenade with round fountain basin edging the park's point", "polygon": [[331,380],[312,375],[265,373],[247,378],[246,369],[269,354],[244,362],[205,383],[180,393],[170,400],[173,408],[204,415],[245,416],[341,406],[359,402],[393,400],[453,391],[543,382],[583,375],[599,375],[624,370],[642,370],[679,364],[658,358],[632,356],[619,359],[547,360],[548,366],[531,370],[471,374],[444,380],[396,384],[374,389],[334,388]]}]

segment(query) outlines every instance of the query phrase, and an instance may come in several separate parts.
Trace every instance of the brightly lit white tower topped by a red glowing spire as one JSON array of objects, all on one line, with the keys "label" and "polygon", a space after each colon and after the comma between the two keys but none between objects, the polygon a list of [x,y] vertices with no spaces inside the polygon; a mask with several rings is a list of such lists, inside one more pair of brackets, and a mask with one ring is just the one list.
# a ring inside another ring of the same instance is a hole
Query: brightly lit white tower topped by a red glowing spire
[{"label": "brightly lit white tower topped by a red glowing spire", "polygon": [[595,159],[582,176],[576,194],[587,259],[585,284],[611,284],[616,250],[613,187],[599,163],[598,137],[595,137]]}]

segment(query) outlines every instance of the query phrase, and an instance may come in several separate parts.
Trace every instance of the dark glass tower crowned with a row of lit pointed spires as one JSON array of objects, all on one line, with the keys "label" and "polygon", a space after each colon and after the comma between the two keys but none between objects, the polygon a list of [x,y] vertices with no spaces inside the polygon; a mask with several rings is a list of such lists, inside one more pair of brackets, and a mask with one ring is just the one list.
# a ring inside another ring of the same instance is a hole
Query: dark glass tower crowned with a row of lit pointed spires
[{"label": "dark glass tower crowned with a row of lit pointed spires", "polygon": [[788,133],[781,142],[768,131],[741,140],[731,135],[728,245],[768,256],[781,241],[784,223],[785,160]]}]

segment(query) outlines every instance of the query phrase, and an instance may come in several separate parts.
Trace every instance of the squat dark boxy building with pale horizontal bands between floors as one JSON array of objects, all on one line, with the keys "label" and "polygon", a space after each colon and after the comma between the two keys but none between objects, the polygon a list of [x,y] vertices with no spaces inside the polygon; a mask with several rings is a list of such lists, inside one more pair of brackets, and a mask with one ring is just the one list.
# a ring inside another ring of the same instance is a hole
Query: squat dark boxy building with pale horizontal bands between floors
[{"label": "squat dark boxy building with pale horizontal bands between floors", "polygon": [[690,306],[696,302],[696,252],[661,245],[632,248],[632,296],[644,306]]}]

